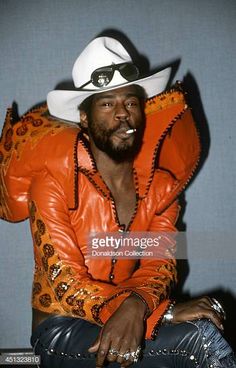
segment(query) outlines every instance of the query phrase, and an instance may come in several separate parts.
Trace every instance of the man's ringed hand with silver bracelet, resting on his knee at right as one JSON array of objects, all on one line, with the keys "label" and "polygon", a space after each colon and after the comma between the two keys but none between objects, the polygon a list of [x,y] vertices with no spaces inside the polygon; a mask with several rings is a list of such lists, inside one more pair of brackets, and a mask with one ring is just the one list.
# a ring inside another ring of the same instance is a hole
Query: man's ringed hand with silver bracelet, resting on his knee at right
[{"label": "man's ringed hand with silver bracelet, resting on his knee at right", "polygon": [[208,296],[179,303],[174,306],[172,323],[192,321],[200,318],[210,319],[219,329],[223,330],[222,316],[212,308],[212,300]]}]

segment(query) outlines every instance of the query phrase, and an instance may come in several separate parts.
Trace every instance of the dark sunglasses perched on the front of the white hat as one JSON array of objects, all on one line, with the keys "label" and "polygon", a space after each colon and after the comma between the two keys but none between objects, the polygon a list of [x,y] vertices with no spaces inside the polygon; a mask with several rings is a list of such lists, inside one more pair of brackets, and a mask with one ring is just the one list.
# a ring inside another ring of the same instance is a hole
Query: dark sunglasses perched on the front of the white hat
[{"label": "dark sunglasses perched on the front of the white hat", "polygon": [[107,86],[111,82],[115,70],[118,70],[121,76],[129,82],[135,80],[139,76],[137,66],[132,63],[112,64],[94,70],[91,74],[91,79],[83,84],[80,89],[84,88],[89,83],[92,83],[95,87]]}]

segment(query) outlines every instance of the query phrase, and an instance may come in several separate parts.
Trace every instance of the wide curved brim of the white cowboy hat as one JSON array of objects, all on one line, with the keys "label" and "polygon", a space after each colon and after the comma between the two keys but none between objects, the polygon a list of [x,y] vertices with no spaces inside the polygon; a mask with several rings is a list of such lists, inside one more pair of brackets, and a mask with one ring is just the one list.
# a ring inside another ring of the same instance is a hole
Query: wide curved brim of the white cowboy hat
[{"label": "wide curved brim of the white cowboy hat", "polygon": [[138,79],[132,82],[122,83],[108,88],[103,88],[102,90],[54,90],[49,92],[47,95],[48,109],[50,114],[57,118],[78,123],[80,121],[79,105],[87,97],[97,93],[111,91],[120,87],[137,84],[145,89],[147,97],[150,98],[158,95],[165,90],[170,78],[170,73],[171,68],[168,67],[149,77]]}]

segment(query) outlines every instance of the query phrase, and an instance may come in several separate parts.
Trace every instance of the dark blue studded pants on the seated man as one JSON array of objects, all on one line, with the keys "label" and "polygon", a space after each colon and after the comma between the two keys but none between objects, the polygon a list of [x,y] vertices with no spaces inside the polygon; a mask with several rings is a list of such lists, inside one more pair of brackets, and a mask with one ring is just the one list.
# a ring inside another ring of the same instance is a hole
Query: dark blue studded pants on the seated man
[{"label": "dark blue studded pants on the seated man", "polygon": [[[100,327],[78,318],[52,316],[35,329],[31,344],[35,354],[41,356],[42,368],[95,368],[96,356],[88,353],[88,348],[95,341],[99,331]],[[214,356],[215,350],[210,349],[210,346],[214,346],[215,336],[218,339],[215,340],[216,350],[221,350],[220,358],[225,359],[226,356],[227,363],[226,360],[220,363]],[[196,323],[161,326],[155,340],[144,341],[142,356],[133,366],[226,368],[236,367],[236,364],[231,348],[217,328],[207,320],[201,320]],[[107,363],[106,367],[118,368],[120,364]]]}]

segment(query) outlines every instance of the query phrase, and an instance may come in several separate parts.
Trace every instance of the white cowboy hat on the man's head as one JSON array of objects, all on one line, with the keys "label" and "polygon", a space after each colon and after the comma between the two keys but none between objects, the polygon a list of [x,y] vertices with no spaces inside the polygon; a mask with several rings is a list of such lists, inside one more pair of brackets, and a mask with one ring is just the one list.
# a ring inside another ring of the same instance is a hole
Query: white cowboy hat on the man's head
[{"label": "white cowboy hat on the man's head", "polygon": [[[103,70],[97,71],[97,69],[104,67],[105,72]],[[107,68],[108,72],[109,69],[112,70],[110,74],[108,73],[111,80],[107,79]],[[122,76],[123,70],[125,77]],[[49,92],[47,95],[49,112],[60,119],[79,122],[78,107],[87,97],[131,84],[143,87],[148,98],[155,96],[166,88],[171,68],[166,68],[141,79],[138,79],[138,74],[135,72],[137,72],[137,68],[119,41],[111,37],[95,38],[86,46],[73,66],[72,77],[77,89]],[[92,81],[93,73],[96,77],[95,82]],[[129,73],[131,73],[130,76],[126,75]]]}]

